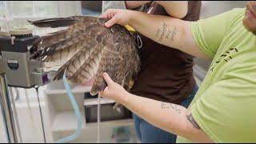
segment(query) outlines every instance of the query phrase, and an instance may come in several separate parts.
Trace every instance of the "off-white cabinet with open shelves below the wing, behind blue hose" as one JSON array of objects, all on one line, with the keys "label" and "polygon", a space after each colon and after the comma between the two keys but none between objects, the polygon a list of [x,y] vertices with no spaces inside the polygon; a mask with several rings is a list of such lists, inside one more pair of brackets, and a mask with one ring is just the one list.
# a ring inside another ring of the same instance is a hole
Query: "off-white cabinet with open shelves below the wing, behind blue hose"
[{"label": "off-white cabinet with open shelves below the wing, behind blue hose", "polygon": [[[71,90],[78,102],[83,122],[82,134],[75,142],[97,142],[97,123],[86,122],[86,110],[84,109],[85,105],[97,105],[97,98],[84,99],[84,93],[90,91],[90,86],[71,86]],[[62,82],[54,82],[44,86],[43,93],[45,95],[47,114],[45,122],[47,122],[46,125],[50,126],[47,132],[47,139],[50,142],[54,142],[59,138],[73,134],[77,128],[77,119]],[[108,103],[114,103],[114,101],[105,98],[101,99],[101,104]],[[111,138],[112,132],[118,126],[129,127],[131,134],[130,142],[136,142],[134,122],[131,118],[101,122],[100,142],[113,142]]]}]

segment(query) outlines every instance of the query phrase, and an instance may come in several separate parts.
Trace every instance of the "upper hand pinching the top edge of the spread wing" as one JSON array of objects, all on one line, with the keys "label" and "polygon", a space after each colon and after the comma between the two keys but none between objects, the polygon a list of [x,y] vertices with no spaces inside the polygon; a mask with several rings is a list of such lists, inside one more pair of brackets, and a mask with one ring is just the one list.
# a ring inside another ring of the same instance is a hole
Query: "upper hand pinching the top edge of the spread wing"
[{"label": "upper hand pinching the top edge of the spread wing", "polygon": [[114,24],[119,24],[122,26],[129,25],[133,10],[120,10],[120,9],[109,9],[102,14],[102,18],[109,19],[105,23],[106,27],[113,26]]}]

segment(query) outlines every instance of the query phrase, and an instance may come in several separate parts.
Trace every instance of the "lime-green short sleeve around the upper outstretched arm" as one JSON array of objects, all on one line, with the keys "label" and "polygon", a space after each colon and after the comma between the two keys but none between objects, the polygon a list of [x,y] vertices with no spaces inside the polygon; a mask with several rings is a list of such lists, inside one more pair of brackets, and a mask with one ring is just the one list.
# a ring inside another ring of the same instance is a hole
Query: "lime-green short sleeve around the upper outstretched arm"
[{"label": "lime-green short sleeve around the upper outstretched arm", "polygon": [[190,25],[195,42],[210,58],[214,58],[218,51],[218,47],[232,24],[231,20],[236,11],[236,9],[230,10],[211,18],[192,22]]}]

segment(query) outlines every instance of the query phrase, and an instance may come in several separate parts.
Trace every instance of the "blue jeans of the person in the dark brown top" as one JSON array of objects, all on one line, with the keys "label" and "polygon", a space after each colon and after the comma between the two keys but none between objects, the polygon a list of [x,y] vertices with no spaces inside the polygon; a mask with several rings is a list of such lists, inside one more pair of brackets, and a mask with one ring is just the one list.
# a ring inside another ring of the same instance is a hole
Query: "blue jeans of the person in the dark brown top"
[{"label": "blue jeans of the person in the dark brown top", "polygon": [[[180,105],[186,108],[192,102],[194,95],[198,91],[198,86],[194,87],[193,92]],[[142,143],[176,143],[176,135],[170,134],[146,122],[142,118],[134,115],[135,133],[137,138]]]}]

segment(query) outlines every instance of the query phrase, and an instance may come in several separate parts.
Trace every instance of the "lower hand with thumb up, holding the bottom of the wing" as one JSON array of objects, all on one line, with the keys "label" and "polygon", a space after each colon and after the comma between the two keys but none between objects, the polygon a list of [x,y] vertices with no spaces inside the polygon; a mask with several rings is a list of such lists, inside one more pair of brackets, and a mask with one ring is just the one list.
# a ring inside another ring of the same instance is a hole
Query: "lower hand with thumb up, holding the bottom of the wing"
[{"label": "lower hand with thumb up, holding the bottom of the wing", "polygon": [[116,102],[121,102],[122,98],[128,94],[128,92],[118,83],[115,83],[108,74],[104,73],[103,78],[106,81],[106,88],[99,93],[103,98],[113,99]]}]

